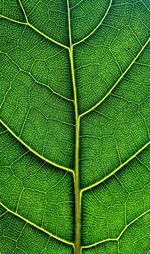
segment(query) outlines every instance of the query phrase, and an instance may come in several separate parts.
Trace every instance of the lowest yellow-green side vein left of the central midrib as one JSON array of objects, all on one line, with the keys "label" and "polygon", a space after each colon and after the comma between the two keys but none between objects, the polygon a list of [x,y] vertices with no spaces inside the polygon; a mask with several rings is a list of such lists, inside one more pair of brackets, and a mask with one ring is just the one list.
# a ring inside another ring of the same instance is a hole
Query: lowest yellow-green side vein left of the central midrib
[{"label": "lowest yellow-green side vein left of the central midrib", "polygon": [[42,231],[43,233],[45,233],[45,234],[51,236],[52,238],[54,238],[54,239],[56,239],[56,240],[58,240],[58,241],[60,241],[60,242],[63,242],[63,243],[66,243],[66,244],[72,245],[72,246],[74,245],[72,242],[67,241],[67,240],[65,240],[65,239],[63,239],[63,238],[61,238],[61,237],[59,237],[59,236],[56,236],[56,235],[50,233],[49,231],[45,230],[44,228],[42,228],[42,227],[36,225],[35,223],[31,222],[30,220],[28,220],[28,219],[26,219],[26,218],[24,218],[22,215],[20,215],[20,214],[14,212],[14,211],[12,211],[12,210],[9,209],[7,206],[5,206],[2,202],[1,202],[0,204],[1,204],[1,206],[2,206],[4,209],[7,210],[7,212],[9,212],[9,213],[13,214],[14,216],[16,216],[17,218],[23,220],[23,221],[26,222],[27,224],[29,224],[29,225],[33,226],[34,228],[36,228],[37,230]]}]

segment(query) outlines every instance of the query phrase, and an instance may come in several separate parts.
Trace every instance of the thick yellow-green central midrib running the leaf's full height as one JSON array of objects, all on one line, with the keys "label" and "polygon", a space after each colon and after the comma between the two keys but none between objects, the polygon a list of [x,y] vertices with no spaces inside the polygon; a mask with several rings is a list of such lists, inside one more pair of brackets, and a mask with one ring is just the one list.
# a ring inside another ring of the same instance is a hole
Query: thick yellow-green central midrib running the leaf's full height
[{"label": "thick yellow-green central midrib running the leaf's full height", "polygon": [[75,81],[69,0],[67,0],[67,9],[68,9],[68,29],[69,29],[69,41],[70,41],[69,58],[70,58],[70,65],[71,65],[71,76],[72,76],[73,94],[74,94],[74,112],[75,112],[75,174],[74,174],[74,193],[75,193],[75,233],[74,233],[74,237],[75,237],[75,242],[74,242],[74,254],[80,254],[80,247],[81,247],[81,202],[80,202],[80,180],[79,180],[80,117],[79,117],[79,112],[78,112],[77,88],[76,88],[76,81]]}]

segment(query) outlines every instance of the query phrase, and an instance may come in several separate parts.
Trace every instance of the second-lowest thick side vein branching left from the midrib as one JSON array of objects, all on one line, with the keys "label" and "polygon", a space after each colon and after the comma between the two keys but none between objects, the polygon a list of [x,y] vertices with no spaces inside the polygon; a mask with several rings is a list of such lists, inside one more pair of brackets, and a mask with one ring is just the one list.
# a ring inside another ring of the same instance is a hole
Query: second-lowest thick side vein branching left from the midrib
[{"label": "second-lowest thick side vein branching left from the midrib", "polygon": [[48,164],[54,166],[54,167],[57,167],[59,169],[62,169],[64,171],[68,171],[72,174],[74,174],[74,170],[73,169],[70,169],[70,168],[67,168],[67,167],[64,167],[62,165],[59,165],[45,157],[43,157],[42,155],[40,155],[39,153],[37,153],[35,150],[33,150],[29,145],[27,145],[20,137],[18,137],[8,126],[7,124],[4,123],[4,121],[2,119],[0,119],[0,123],[8,130],[9,133],[12,134],[12,136],[14,138],[16,138],[23,146],[25,146],[30,152],[32,152],[34,155],[36,155],[38,158],[40,158],[41,160],[47,162]]}]

